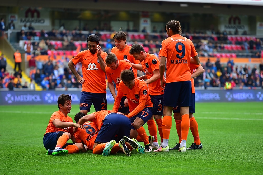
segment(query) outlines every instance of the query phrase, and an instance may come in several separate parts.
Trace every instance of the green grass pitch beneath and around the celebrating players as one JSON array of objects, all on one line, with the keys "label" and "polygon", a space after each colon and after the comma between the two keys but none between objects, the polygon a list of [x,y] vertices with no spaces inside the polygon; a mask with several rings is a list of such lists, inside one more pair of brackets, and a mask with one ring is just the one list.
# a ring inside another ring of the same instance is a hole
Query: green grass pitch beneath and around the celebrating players
[{"label": "green grass pitch beneath and around the celebrating players", "polygon": [[[263,174],[262,102],[196,103],[203,149],[145,154],[133,150],[131,157],[103,157],[91,151],[46,155],[43,135],[57,110],[57,105],[0,106],[0,174]],[[78,105],[73,105],[69,116],[77,112]],[[170,148],[176,142],[173,121]],[[192,142],[189,130],[187,147]]]}]

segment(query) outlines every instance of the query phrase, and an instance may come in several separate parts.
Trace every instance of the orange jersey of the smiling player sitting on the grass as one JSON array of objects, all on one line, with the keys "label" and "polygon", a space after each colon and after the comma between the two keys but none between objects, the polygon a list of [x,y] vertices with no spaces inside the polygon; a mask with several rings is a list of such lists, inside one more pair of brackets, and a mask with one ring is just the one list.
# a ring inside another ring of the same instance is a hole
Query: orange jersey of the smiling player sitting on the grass
[{"label": "orange jersey of the smiling player sitting on the grass", "polygon": [[71,134],[73,133],[73,126],[67,127],[67,128],[55,127],[55,125],[53,124],[53,120],[55,119],[59,119],[60,121],[63,121],[63,122],[69,122],[69,123],[73,122],[71,117],[69,117],[68,115],[67,117],[65,117],[65,115],[61,111],[58,110],[51,115],[49,122],[48,122],[48,127],[46,128],[46,133],[52,133],[52,132],[58,132],[58,131],[68,132]]}]

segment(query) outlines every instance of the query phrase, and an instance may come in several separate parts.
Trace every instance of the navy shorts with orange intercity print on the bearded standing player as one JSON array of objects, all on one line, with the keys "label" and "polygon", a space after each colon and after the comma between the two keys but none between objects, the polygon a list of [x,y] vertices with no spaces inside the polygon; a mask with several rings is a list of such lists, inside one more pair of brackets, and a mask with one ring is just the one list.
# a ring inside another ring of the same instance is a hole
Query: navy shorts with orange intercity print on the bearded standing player
[{"label": "navy shorts with orange intercity print on the bearded standing player", "polygon": [[107,110],[106,96],[106,93],[90,93],[82,91],[79,101],[79,110],[87,110],[90,112],[92,103],[95,111]]}]

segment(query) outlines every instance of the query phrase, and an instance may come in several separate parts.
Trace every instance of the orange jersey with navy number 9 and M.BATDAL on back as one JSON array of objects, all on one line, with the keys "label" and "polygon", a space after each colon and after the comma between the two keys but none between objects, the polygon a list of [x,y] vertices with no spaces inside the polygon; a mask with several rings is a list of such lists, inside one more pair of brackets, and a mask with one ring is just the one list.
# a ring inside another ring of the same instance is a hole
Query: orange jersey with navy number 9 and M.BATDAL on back
[{"label": "orange jersey with navy number 9 and M.BATDAL on back", "polygon": [[162,41],[159,56],[167,58],[166,83],[191,80],[190,58],[197,55],[190,39],[173,35]]}]

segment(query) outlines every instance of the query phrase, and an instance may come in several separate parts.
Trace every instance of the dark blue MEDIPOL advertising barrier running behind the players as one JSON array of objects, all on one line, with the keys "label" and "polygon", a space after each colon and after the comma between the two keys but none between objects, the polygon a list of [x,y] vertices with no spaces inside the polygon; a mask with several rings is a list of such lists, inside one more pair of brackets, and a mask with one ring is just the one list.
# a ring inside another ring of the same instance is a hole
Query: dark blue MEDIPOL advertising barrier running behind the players
[{"label": "dark blue MEDIPOL advertising barrier running behind the players", "polygon": [[[80,91],[0,91],[0,105],[57,104],[60,94],[71,94],[72,104],[79,104]],[[196,102],[263,102],[263,90],[195,90]],[[114,99],[107,90],[107,103]]]}]

